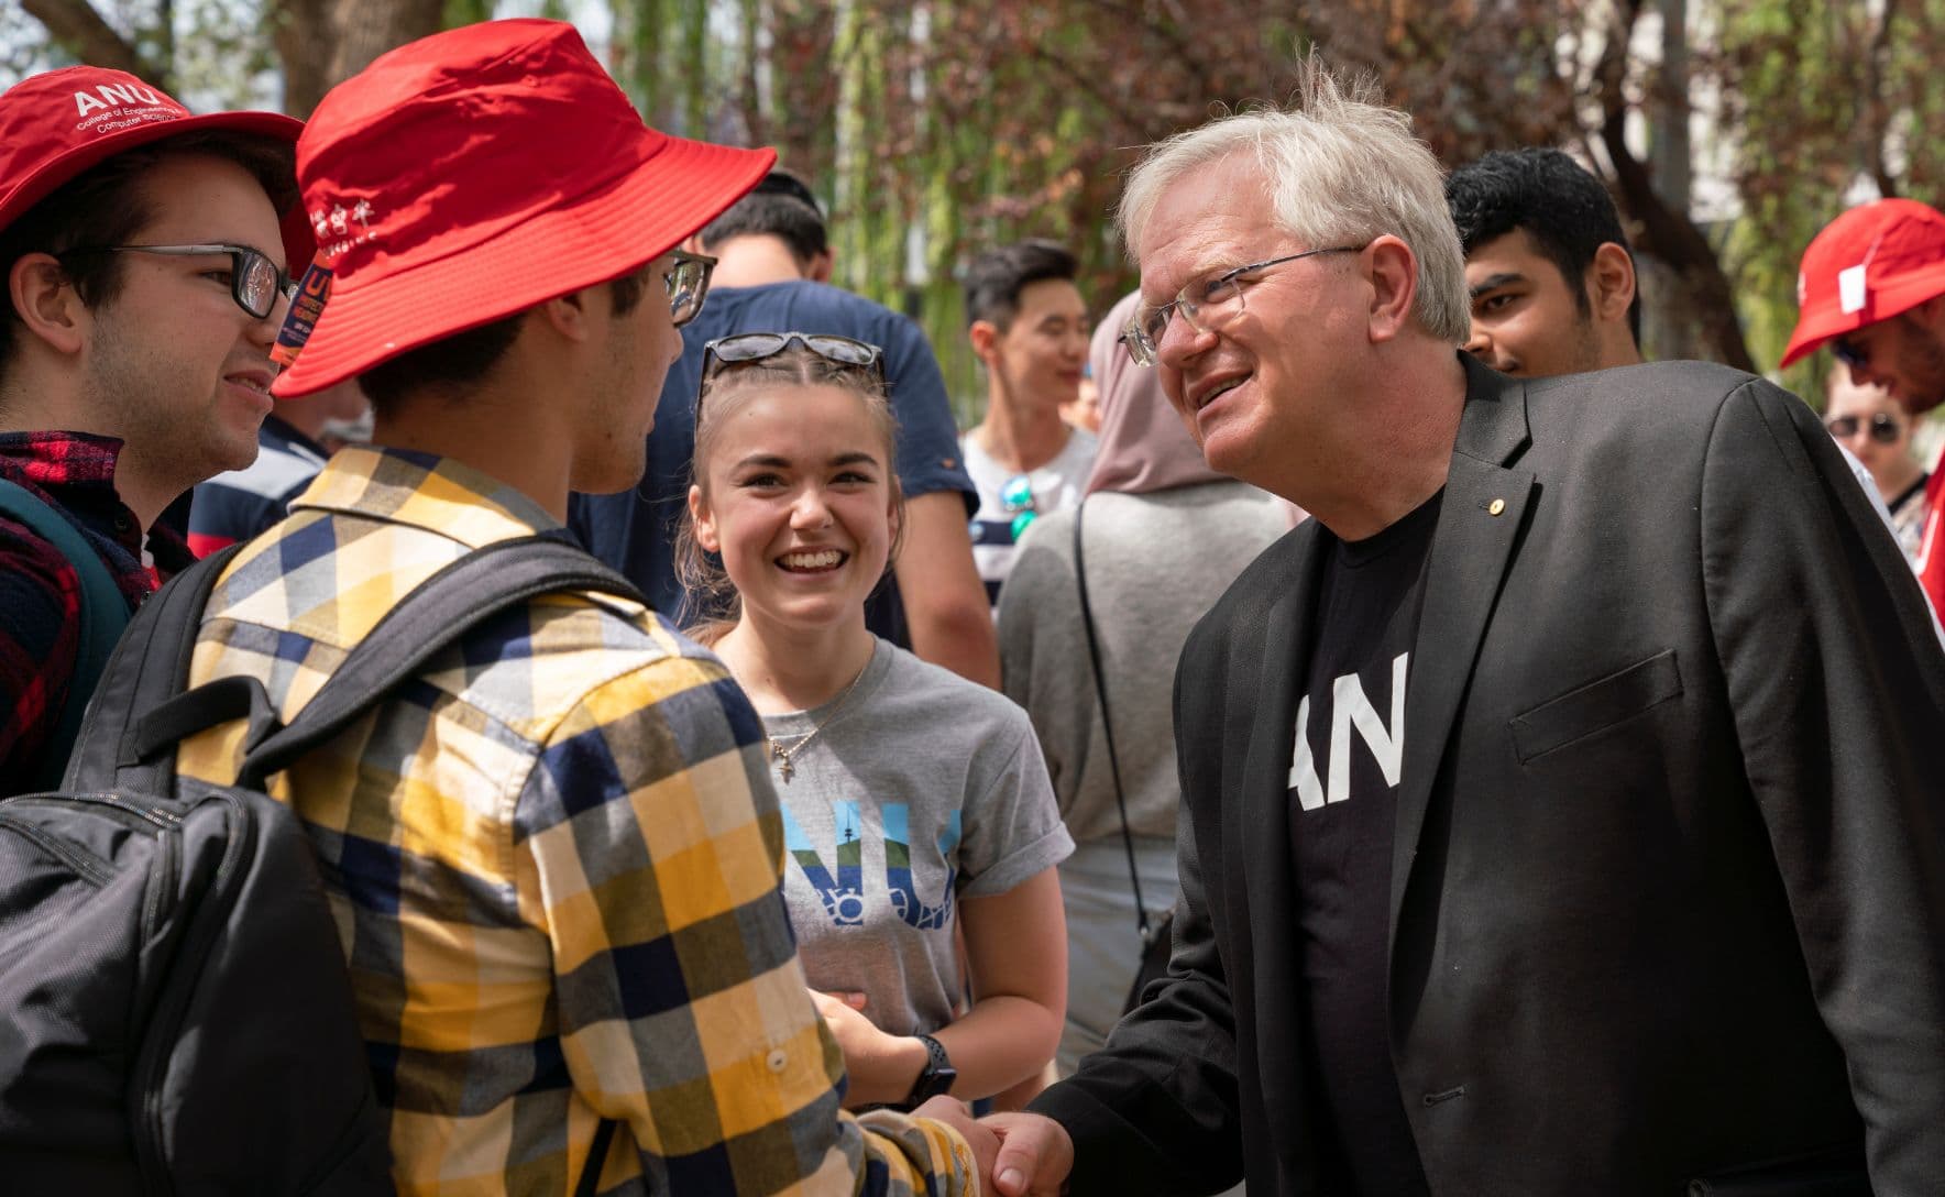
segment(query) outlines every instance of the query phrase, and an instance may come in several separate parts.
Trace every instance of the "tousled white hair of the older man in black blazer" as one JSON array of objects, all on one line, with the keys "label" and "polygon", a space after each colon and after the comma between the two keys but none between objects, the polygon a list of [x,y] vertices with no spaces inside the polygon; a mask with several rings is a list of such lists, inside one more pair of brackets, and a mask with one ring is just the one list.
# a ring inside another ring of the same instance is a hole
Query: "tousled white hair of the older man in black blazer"
[{"label": "tousled white hair of the older man in black blazer", "polygon": [[[1303,243],[1363,245],[1393,234],[1418,257],[1412,315],[1463,345],[1472,315],[1465,253],[1445,202],[1445,171],[1387,107],[1375,76],[1340,80],[1315,53],[1297,64],[1290,111],[1247,109],[1149,146],[1128,175],[1114,220],[1132,253],[1161,195],[1188,171],[1251,154],[1278,224]],[[1220,202],[1220,200],[1212,200]]]}]

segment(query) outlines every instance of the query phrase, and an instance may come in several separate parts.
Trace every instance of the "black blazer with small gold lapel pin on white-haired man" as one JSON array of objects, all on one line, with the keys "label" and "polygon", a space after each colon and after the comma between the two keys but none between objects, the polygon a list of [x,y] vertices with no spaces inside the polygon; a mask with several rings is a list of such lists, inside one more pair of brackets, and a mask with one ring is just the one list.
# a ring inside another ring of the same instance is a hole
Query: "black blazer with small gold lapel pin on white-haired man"
[{"label": "black blazer with small gold lapel pin on white-haired man", "polygon": [[[1867,1150],[1877,1193],[1945,1193],[1945,654],[1896,545],[1762,380],[1467,376],[1391,862],[1432,1191],[1682,1193]],[[1278,541],[1183,650],[1171,975],[1033,1106],[1076,1139],[1074,1193],[1239,1164],[1251,1197],[1346,1189],[1288,847],[1326,547]]]}]

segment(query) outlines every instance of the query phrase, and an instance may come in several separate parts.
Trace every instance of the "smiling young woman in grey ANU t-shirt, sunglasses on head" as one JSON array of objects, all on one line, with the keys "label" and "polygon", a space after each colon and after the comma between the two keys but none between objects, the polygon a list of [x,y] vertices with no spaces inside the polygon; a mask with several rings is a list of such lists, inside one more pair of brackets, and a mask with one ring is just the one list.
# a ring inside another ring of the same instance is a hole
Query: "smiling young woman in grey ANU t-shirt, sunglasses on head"
[{"label": "smiling young woman in grey ANU t-shirt, sunglasses on head", "polygon": [[1044,1069],[1074,847],[1025,712],[866,627],[902,524],[879,362],[846,337],[710,343],[677,543],[692,635],[762,716],[790,925],[854,1107]]}]

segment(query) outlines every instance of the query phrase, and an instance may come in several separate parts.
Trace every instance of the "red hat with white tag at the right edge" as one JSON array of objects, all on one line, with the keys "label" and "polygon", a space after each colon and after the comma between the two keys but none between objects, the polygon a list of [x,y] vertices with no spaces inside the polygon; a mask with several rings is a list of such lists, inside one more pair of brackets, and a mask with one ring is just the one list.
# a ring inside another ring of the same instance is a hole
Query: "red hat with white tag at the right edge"
[{"label": "red hat with white tag at the right edge", "polygon": [[1859,204],[1824,226],[1797,271],[1784,366],[1824,341],[1945,294],[1945,214],[1918,200]]}]

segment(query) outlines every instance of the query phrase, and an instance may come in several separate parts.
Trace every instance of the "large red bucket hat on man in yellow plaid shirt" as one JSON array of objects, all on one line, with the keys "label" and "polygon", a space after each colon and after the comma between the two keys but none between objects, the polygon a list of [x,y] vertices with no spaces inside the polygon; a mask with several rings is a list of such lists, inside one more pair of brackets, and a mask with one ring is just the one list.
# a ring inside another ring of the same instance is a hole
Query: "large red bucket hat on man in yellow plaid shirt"
[{"label": "large red bucket hat on man in yellow plaid shirt", "polygon": [[298,142],[331,292],[276,395],[650,263],[774,150],[657,132],[562,21],[482,21],[338,84]]}]

